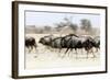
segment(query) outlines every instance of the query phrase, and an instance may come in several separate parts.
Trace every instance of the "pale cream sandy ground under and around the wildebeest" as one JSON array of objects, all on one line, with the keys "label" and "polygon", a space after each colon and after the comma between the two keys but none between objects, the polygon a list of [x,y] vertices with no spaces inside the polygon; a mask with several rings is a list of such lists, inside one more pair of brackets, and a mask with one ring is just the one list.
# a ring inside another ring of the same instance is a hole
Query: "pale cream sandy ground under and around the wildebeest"
[{"label": "pale cream sandy ground under and around the wildebeest", "polygon": [[[63,57],[65,49],[58,53],[58,49],[47,49],[44,45],[37,43],[42,36],[47,34],[26,34],[25,36],[35,37],[37,49],[33,49],[29,53],[25,48],[25,69],[46,69],[46,68],[68,68],[68,67],[87,67],[100,65],[100,53],[97,52],[96,58],[92,58],[92,54],[89,54],[89,58],[85,50],[82,53],[78,50],[76,58],[75,52],[70,52]],[[57,36],[57,35],[55,35]]]}]

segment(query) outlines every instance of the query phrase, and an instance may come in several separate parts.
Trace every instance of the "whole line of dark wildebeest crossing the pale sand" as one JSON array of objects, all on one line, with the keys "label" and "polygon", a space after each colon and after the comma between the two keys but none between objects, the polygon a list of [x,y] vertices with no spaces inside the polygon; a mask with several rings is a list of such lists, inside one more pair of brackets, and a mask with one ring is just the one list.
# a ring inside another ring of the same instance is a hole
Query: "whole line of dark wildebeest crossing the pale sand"
[{"label": "whole line of dark wildebeest crossing the pale sand", "polygon": [[[38,39],[40,44],[51,48],[51,49],[59,49],[58,53],[62,52],[62,49],[65,48],[64,55],[62,57],[65,57],[66,54],[69,54],[68,52],[72,52],[76,54],[76,58],[78,55],[78,49],[82,50],[85,49],[87,54],[87,58],[89,54],[92,54],[94,58],[96,57],[95,53],[100,49],[100,36],[91,37],[90,35],[76,35],[76,34],[68,34],[65,36],[54,36],[54,35],[47,35],[43,36]],[[35,42],[34,37],[26,37],[25,38],[25,47],[29,48],[29,52],[33,49],[33,47],[36,49],[38,45]],[[94,50],[92,48],[96,48]],[[75,50],[75,52],[73,52]]]}]

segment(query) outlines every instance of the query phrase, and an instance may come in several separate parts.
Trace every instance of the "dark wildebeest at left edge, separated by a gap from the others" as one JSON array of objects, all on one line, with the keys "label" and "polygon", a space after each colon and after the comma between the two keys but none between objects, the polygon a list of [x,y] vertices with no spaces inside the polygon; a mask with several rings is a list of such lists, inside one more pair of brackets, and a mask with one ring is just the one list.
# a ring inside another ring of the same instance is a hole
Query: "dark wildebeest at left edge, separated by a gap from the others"
[{"label": "dark wildebeest at left edge, separated by a gap from the others", "polygon": [[34,37],[25,37],[25,47],[28,47],[29,53],[31,53],[31,50],[33,48],[36,49],[37,45],[36,45],[35,38]]}]

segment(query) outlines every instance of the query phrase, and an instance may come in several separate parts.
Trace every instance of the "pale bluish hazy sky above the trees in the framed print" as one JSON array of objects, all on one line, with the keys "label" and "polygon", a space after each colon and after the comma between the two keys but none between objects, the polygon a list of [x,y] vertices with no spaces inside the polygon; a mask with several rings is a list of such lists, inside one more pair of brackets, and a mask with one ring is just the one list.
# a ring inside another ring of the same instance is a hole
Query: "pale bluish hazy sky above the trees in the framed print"
[{"label": "pale bluish hazy sky above the trees in the framed print", "polygon": [[59,23],[64,18],[70,18],[72,22],[80,26],[80,20],[88,19],[94,27],[100,27],[99,14],[82,14],[82,13],[57,13],[57,12],[25,12],[25,25],[54,25]]}]

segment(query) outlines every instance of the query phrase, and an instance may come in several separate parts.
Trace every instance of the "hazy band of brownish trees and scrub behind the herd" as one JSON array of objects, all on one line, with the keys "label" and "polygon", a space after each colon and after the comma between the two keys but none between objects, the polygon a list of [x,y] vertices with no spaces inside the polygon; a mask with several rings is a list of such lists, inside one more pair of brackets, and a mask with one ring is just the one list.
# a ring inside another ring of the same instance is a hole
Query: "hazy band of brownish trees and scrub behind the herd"
[{"label": "hazy band of brownish trees and scrub behind the herd", "polygon": [[[94,32],[96,30],[98,32]],[[43,25],[43,26],[25,26],[25,33],[35,33],[35,34],[89,34],[89,35],[99,35],[99,28],[92,27],[90,20],[81,19],[80,26],[73,22],[70,18],[64,18],[59,23],[53,23],[53,25]]]}]

